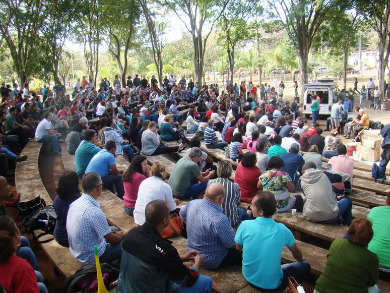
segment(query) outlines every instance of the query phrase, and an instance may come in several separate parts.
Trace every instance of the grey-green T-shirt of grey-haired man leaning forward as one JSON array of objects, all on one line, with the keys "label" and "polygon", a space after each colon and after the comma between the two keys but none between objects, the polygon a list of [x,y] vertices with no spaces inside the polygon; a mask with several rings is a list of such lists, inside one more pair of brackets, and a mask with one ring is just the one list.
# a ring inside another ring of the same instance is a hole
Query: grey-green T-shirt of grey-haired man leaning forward
[{"label": "grey-green T-shirt of grey-haired man leaning forward", "polygon": [[184,195],[190,186],[191,179],[201,174],[199,166],[190,158],[181,158],[175,164],[168,184],[172,188],[172,194],[177,197]]}]

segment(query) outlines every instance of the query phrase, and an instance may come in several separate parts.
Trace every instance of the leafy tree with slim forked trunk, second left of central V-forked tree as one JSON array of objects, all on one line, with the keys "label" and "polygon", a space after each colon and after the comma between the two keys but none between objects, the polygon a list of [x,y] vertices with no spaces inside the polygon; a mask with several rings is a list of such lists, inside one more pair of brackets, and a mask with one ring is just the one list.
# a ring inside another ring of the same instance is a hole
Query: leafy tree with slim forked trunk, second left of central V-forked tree
[{"label": "leafy tree with slim forked trunk, second left of central V-forked tree", "polygon": [[[136,23],[140,17],[138,2],[136,0],[103,0],[102,15],[104,15],[101,26],[105,28],[105,42],[108,51],[115,58],[118,64],[122,86],[126,85],[128,51],[134,41]],[[120,7],[120,13],[117,8]]]}]

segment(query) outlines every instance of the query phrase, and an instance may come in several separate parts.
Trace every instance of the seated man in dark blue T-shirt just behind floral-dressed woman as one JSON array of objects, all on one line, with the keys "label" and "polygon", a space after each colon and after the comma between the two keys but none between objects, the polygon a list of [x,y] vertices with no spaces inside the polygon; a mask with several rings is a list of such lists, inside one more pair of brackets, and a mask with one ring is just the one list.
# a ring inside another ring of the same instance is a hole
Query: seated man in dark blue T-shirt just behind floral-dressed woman
[{"label": "seated man in dark blue T-shirt just behind floral-dressed woman", "polygon": [[290,150],[286,154],[281,154],[280,158],[284,162],[284,166],[281,168],[282,171],[287,172],[294,184],[297,187],[298,184],[298,172],[302,171],[302,166],[305,163],[302,156],[299,154],[299,144],[293,143],[290,146]]}]

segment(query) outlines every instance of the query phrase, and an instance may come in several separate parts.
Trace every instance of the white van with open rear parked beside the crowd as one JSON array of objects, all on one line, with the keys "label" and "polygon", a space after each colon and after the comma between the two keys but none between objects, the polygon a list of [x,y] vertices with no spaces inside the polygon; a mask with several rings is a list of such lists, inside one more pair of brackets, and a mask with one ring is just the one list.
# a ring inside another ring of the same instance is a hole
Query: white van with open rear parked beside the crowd
[{"label": "white van with open rear parked beside the crowd", "polygon": [[306,115],[306,118],[309,118],[311,114],[310,104],[311,97],[314,93],[321,98],[321,103],[319,104],[319,114],[330,116],[333,101],[337,100],[340,93],[337,84],[333,81],[333,79],[321,79],[318,80],[318,82],[305,84],[303,114]]}]

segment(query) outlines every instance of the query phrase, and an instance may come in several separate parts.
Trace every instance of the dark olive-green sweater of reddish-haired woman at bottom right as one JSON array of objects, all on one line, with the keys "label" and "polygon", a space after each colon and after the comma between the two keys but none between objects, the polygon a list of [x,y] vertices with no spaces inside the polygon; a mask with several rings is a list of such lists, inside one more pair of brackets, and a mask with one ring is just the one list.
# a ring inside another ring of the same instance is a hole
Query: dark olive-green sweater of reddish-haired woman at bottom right
[{"label": "dark olive-green sweater of reddish-haired woman at bottom right", "polygon": [[367,293],[376,284],[379,274],[378,257],[366,247],[347,239],[332,242],[325,269],[315,282],[320,293]]}]

